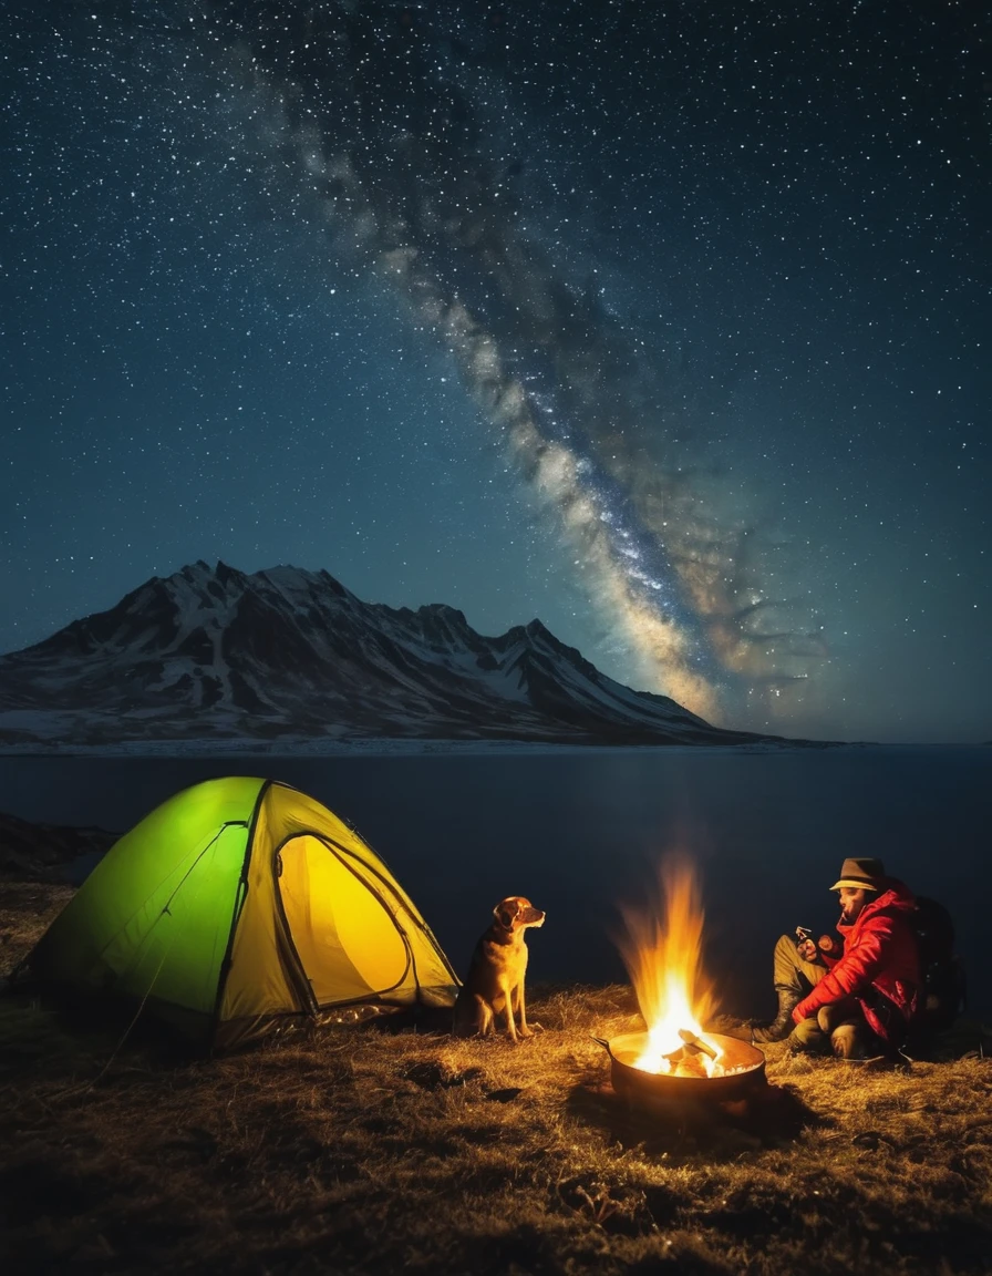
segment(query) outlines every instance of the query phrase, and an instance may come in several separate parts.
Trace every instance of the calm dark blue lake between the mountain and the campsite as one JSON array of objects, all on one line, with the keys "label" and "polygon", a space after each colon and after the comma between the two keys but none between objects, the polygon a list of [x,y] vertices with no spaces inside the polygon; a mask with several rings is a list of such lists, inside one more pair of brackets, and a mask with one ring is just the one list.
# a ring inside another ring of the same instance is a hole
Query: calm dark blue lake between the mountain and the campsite
[{"label": "calm dark blue lake between the mountain and the campsite", "polygon": [[709,972],[724,1005],[771,1013],[770,953],[797,924],[831,929],[847,855],[875,855],[946,903],[969,1012],[992,1016],[979,962],[992,910],[992,749],[848,746],[783,753],[588,753],[259,758],[0,758],[0,809],[124,832],[219,775],[283,780],[352,823],[386,860],[464,972],[493,905],[525,894],[530,979],[624,977],[611,935],[662,855],[699,865]]}]

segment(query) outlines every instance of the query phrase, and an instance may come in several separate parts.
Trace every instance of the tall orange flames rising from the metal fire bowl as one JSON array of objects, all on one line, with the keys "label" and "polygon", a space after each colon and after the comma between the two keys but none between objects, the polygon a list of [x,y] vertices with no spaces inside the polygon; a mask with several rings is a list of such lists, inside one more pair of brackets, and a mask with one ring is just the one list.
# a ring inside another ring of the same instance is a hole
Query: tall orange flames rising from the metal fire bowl
[{"label": "tall orange flames rising from the metal fire bowl", "polygon": [[[618,939],[620,953],[648,1027],[648,1045],[634,1067],[713,1076],[723,1051],[703,1031],[717,1000],[703,971],[704,914],[696,873],[686,857],[669,856],[658,878],[658,907],[621,910],[626,934]],[[686,1055],[680,1028],[694,1032],[718,1058]],[[666,1058],[676,1054],[677,1060]]]}]

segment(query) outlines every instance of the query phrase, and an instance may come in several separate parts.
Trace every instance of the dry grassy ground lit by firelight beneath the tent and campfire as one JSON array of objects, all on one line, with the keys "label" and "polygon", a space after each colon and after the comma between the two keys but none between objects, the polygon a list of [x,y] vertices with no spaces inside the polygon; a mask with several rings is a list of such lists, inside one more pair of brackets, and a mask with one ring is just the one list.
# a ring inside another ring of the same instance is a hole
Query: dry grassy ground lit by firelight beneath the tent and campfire
[{"label": "dry grassy ground lit by firelight beneath the tent and campfire", "polygon": [[[0,965],[66,897],[0,886]],[[112,1057],[119,1034],[0,999],[0,1266],[992,1270],[977,1030],[908,1073],[770,1046],[750,1114],[663,1119],[616,1099],[590,1040],[632,1011],[624,988],[537,990],[544,1031],[519,1048],[380,1025],[190,1062],[130,1040]]]}]

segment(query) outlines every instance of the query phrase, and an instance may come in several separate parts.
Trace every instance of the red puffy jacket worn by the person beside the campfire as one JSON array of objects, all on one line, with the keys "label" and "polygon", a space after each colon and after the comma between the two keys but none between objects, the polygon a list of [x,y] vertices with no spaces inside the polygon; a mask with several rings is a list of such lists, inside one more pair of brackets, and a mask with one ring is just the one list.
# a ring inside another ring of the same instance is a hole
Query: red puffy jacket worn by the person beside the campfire
[{"label": "red puffy jacket worn by the person beside the campfire", "polygon": [[[900,1045],[907,1025],[919,1008],[919,952],[910,921],[915,900],[895,878],[864,905],[850,925],[838,923],[844,953],[803,998],[792,1017],[797,1023],[811,1018],[821,1005],[844,997],[861,1004],[868,1027],[884,1041]],[[893,1014],[893,1007],[899,1012]]]}]

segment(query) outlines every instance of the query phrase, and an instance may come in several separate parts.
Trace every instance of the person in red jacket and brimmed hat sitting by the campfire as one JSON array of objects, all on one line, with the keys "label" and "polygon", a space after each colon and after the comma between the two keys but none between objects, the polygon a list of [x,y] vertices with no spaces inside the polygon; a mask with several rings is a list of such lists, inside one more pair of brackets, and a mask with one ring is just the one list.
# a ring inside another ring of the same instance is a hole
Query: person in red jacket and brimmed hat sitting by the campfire
[{"label": "person in red jacket and brimmed hat sitting by the campfire", "polygon": [[755,1027],[755,1041],[792,1034],[801,1050],[839,1058],[895,1054],[919,1011],[921,972],[913,894],[885,873],[881,860],[847,859],[830,888],[840,896],[843,949],[829,935],[775,946],[779,1014]]}]

